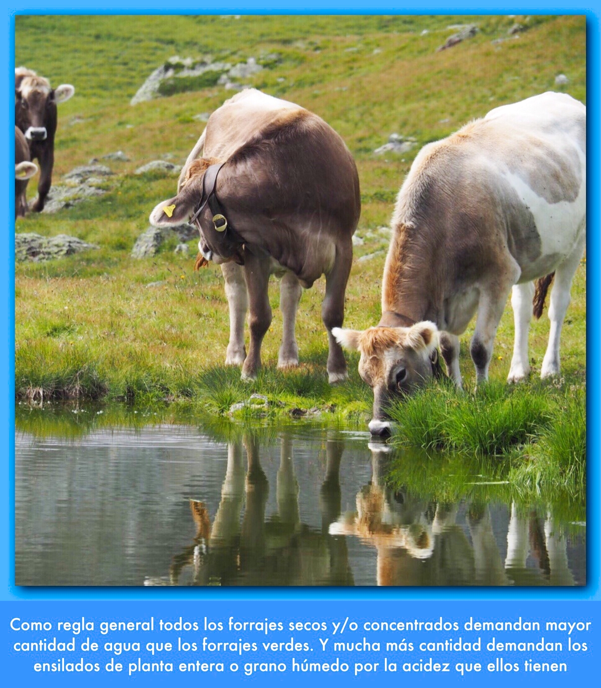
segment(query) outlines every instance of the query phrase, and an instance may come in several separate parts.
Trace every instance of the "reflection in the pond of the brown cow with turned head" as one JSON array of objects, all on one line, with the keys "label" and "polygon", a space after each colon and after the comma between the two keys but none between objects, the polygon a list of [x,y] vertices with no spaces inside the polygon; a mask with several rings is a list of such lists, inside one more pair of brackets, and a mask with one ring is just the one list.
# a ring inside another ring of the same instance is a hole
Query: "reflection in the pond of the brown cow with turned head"
[{"label": "reflection in the pond of the brown cow with turned head", "polygon": [[275,487],[277,514],[267,518],[269,484],[260,464],[257,438],[247,433],[242,442],[230,443],[213,524],[205,504],[191,499],[197,528],[193,544],[173,558],[169,581],[147,579],[146,585],[353,585],[346,539],[328,532],[340,515],[343,448],[340,440],[326,442],[319,531],[300,520],[290,438],[281,440]]}]

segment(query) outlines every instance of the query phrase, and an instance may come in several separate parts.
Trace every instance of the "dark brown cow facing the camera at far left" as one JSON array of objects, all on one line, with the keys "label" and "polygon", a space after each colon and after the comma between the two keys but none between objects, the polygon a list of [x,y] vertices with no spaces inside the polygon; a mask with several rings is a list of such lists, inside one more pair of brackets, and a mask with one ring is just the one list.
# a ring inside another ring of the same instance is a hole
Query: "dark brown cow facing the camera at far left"
[{"label": "dark brown cow facing the camera at far left", "polygon": [[28,140],[32,160],[38,160],[41,174],[32,210],[41,213],[52,184],[56,105],[75,93],[70,84],[50,88],[50,82],[27,67],[14,70],[14,123]]}]

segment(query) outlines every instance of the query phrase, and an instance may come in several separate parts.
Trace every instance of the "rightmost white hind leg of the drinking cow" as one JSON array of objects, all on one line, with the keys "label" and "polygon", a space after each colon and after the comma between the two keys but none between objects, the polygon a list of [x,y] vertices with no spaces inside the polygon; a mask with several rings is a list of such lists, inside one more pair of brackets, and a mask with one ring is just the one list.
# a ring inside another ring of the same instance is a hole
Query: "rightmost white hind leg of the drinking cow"
[{"label": "rightmost white hind leg of the drinking cow", "polygon": [[582,232],[576,249],[555,271],[555,281],[553,282],[553,288],[551,288],[551,302],[549,303],[549,320],[551,321],[549,344],[547,345],[547,352],[545,352],[545,358],[542,359],[542,367],[540,369],[540,377],[543,380],[553,375],[559,375],[561,327],[570,303],[572,279],[584,251],[585,237],[586,233]]}]

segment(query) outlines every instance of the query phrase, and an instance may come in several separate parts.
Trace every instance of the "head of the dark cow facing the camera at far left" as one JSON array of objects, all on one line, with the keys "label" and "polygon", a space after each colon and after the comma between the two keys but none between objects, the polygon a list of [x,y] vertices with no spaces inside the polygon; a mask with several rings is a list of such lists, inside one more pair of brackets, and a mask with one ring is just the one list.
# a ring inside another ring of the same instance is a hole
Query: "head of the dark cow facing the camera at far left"
[{"label": "head of the dark cow facing the camera at far left", "polygon": [[75,93],[70,84],[50,88],[47,79],[29,69],[15,70],[14,122],[31,144],[52,139],[56,131],[56,105]]}]

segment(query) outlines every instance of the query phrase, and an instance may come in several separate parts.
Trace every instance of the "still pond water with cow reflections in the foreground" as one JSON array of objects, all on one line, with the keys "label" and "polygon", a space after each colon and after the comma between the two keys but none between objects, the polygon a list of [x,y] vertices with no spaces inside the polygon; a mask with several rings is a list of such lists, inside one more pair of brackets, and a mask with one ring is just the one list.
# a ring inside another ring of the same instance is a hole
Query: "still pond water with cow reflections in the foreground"
[{"label": "still pond water with cow reflections in the foreground", "polygon": [[17,431],[15,453],[17,585],[586,582],[585,524],[565,510],[477,475],[454,502],[391,488],[403,456],[368,433]]}]

